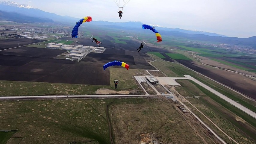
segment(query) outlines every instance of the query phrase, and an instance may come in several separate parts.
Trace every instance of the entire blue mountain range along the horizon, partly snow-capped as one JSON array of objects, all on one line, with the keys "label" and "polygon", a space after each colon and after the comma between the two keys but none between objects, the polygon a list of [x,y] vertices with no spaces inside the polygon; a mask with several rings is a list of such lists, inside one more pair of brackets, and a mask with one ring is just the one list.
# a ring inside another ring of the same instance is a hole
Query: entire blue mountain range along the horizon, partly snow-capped
[{"label": "entire blue mountain range along the horizon, partly snow-capped", "polygon": [[[74,25],[79,18],[70,16],[60,16],[55,13],[45,12],[36,7],[26,4],[17,4],[11,1],[0,2],[0,19],[15,22],[61,22]],[[91,21],[87,25],[105,25],[113,28],[136,29],[142,28],[142,22],[105,22]],[[204,31],[190,31],[180,28],[164,28],[154,25],[161,35],[171,35],[175,37],[185,37],[190,40],[203,40],[218,43],[252,46],[256,49],[256,36],[249,38],[227,37],[221,34],[209,33]]]}]

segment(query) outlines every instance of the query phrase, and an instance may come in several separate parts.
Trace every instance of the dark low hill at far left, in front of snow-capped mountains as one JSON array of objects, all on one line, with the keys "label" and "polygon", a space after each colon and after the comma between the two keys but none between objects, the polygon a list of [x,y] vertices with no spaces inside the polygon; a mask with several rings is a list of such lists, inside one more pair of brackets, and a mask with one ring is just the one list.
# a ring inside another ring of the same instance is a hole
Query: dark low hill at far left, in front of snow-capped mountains
[{"label": "dark low hill at far left, in front of snow-capped mountains", "polygon": [[28,22],[54,22],[52,19],[31,17],[31,16],[26,16],[26,15],[21,14],[21,13],[6,12],[6,11],[2,11],[2,10],[0,10],[0,19],[1,20],[6,20],[6,21],[12,21],[12,22],[23,22],[23,23],[28,23]]}]

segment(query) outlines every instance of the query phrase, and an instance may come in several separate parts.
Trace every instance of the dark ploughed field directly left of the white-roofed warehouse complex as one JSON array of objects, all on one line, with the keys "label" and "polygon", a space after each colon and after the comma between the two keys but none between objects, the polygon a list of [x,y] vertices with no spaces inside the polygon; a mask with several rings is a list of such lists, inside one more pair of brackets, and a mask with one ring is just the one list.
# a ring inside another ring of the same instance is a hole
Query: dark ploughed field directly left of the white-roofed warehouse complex
[{"label": "dark ploughed field directly left of the white-roofed warehouse complex", "polygon": [[66,51],[59,49],[34,48],[34,47],[18,47],[0,51],[0,54],[18,55],[26,57],[44,57],[52,58]]}]

